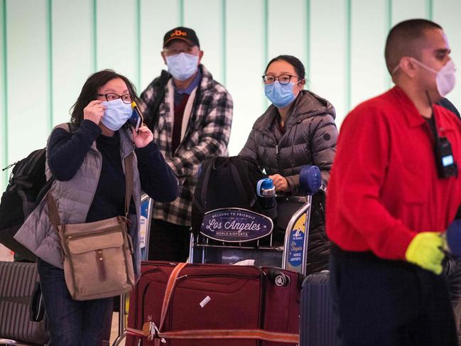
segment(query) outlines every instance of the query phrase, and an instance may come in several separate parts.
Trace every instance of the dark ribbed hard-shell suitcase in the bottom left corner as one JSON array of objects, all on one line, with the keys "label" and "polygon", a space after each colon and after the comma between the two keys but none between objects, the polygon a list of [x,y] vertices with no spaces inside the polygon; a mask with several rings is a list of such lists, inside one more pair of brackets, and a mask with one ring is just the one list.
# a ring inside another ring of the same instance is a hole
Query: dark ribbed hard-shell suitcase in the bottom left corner
[{"label": "dark ribbed hard-shell suitcase in the bottom left corner", "polygon": [[44,314],[37,265],[0,261],[0,345],[44,345]]}]

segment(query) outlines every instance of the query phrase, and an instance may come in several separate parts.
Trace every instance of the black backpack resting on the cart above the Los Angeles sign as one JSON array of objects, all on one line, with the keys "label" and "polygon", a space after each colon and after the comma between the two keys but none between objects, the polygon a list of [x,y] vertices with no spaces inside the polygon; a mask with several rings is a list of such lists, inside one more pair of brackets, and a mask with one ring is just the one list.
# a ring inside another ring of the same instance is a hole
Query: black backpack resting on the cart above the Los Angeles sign
[{"label": "black backpack resting on the cart above the Los Angeles sign", "polygon": [[254,158],[219,156],[205,160],[192,202],[192,232],[200,232],[203,215],[210,210],[239,207],[265,214],[256,185],[266,177]]}]

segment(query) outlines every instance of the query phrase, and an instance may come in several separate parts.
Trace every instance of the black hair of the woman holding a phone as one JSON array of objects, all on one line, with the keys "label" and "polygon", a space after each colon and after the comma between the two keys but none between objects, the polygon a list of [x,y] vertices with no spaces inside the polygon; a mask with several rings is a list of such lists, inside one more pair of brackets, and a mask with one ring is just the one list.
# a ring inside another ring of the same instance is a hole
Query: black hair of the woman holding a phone
[{"label": "black hair of the woman holding a phone", "polygon": [[129,90],[129,93],[133,96],[135,100],[138,99],[136,96],[136,88],[133,83],[130,82],[128,78],[124,75],[119,75],[114,70],[102,70],[94,72],[82,87],[82,91],[77,98],[75,104],[70,108],[70,122],[74,124],[80,124],[83,120],[83,109],[98,97],[98,90],[100,87],[105,85],[109,80],[114,80],[115,78],[121,78],[126,84],[126,87]]}]

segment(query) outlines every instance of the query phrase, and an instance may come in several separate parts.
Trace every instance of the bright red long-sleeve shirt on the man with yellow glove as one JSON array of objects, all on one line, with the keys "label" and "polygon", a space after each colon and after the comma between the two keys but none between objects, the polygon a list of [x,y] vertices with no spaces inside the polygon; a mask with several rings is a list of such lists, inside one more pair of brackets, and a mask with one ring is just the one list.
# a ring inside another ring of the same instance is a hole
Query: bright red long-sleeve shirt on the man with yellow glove
[{"label": "bright red long-sleeve shirt on the man with yellow glove", "polygon": [[[461,121],[433,108],[461,168]],[[428,121],[399,87],[352,110],[328,183],[330,240],[345,251],[405,259],[417,232],[443,232],[461,205],[461,175],[438,178],[433,147]]]}]

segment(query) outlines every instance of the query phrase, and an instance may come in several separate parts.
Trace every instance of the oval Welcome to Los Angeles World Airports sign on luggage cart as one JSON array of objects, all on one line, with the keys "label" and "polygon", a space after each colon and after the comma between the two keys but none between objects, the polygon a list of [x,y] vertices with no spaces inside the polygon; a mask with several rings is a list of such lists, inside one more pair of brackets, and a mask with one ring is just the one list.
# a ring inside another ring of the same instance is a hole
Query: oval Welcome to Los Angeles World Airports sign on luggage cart
[{"label": "oval Welcome to Los Angeles World Airports sign on luggage cart", "polygon": [[246,209],[227,208],[205,213],[200,233],[222,242],[249,242],[271,234],[269,217]]}]

